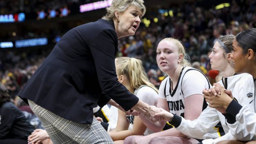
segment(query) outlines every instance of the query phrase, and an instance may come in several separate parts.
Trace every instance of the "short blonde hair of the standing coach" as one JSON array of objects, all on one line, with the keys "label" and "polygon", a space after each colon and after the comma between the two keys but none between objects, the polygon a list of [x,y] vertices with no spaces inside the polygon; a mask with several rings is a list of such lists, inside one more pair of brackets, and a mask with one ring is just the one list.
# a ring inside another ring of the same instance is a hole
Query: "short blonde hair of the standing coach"
[{"label": "short blonde hair of the standing coach", "polygon": [[112,20],[115,18],[115,11],[123,13],[129,6],[138,7],[142,16],[146,13],[146,7],[144,6],[143,0],[113,0],[110,7],[107,7],[107,14],[102,17],[102,19]]}]

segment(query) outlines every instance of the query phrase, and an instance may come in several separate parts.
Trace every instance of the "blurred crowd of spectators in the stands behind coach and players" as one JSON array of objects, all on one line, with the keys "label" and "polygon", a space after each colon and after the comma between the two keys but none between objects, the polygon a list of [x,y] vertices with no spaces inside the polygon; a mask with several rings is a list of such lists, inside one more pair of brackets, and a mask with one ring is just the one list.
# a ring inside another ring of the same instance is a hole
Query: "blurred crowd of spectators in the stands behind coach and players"
[{"label": "blurred crowd of spectators in the stands behind coach and players", "polygon": [[[173,16],[166,16],[159,9],[148,11],[145,18],[151,19],[149,27],[141,23],[134,36],[119,39],[117,56],[141,59],[150,81],[158,87],[164,74],[156,63],[156,45],[163,38],[173,37],[186,47],[192,66],[200,69],[214,82],[219,72],[211,70],[208,58],[213,43],[222,35],[237,35],[240,31],[255,28],[255,8],[255,0],[233,0],[229,7],[218,10],[206,10],[197,6],[197,3],[173,6],[170,8]],[[157,23],[153,21],[154,18],[158,18]],[[61,34],[70,29],[65,27]],[[47,34],[45,36],[49,37]],[[15,99],[51,50],[52,48],[1,51],[0,82],[6,86],[12,98]]]}]

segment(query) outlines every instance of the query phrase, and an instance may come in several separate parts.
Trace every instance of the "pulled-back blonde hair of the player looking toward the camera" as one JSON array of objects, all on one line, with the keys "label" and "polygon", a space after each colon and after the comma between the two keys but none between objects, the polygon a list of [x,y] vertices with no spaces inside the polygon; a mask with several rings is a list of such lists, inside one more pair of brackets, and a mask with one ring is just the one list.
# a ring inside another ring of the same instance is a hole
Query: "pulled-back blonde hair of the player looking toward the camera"
[{"label": "pulled-back blonde hair of the player looking toward the camera", "polygon": [[186,53],[184,46],[182,45],[182,43],[179,40],[173,39],[173,38],[165,38],[165,39],[161,40],[160,42],[162,42],[162,41],[171,41],[178,47],[178,54],[183,54],[183,58],[180,63],[181,66],[191,66],[191,64],[189,62],[190,58],[189,58],[188,54]]}]

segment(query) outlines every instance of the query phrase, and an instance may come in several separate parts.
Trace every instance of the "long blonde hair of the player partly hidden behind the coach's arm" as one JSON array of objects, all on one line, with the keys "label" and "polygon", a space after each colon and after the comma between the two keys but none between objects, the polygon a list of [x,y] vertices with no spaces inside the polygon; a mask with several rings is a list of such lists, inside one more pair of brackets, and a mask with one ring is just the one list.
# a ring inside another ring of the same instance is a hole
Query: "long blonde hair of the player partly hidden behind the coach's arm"
[{"label": "long blonde hair of the player partly hidden behind the coach's arm", "polygon": [[118,77],[124,75],[129,80],[131,90],[133,90],[132,92],[142,85],[147,85],[158,91],[156,87],[149,82],[147,74],[142,66],[142,62],[139,59],[130,57],[116,58],[116,73]]}]

